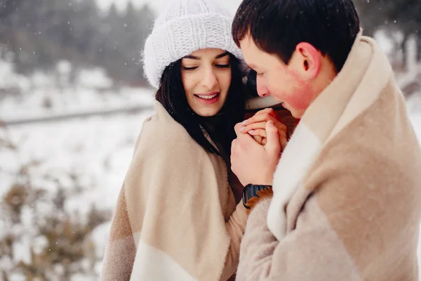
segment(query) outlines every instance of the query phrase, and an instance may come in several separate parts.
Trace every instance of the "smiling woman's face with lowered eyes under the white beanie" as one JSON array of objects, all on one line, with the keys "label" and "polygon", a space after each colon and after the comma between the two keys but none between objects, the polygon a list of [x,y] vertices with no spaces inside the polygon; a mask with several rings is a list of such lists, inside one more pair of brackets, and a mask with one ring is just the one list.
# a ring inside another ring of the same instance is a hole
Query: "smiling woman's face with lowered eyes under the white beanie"
[{"label": "smiling woman's face with lowered eyes under the white beanie", "polygon": [[181,60],[182,84],[187,102],[201,117],[216,115],[227,99],[231,84],[229,53],[220,48],[205,48]]}]

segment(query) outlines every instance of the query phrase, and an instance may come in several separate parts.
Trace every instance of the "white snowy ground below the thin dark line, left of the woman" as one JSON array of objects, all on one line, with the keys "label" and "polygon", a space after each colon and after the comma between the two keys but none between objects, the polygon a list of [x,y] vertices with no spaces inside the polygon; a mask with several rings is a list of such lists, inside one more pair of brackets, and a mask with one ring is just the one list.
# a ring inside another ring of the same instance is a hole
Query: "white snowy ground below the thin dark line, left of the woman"
[{"label": "white snowy ground below the thin dark line, left of the woman", "polygon": [[[74,188],[72,177],[76,176],[77,185],[84,190],[67,200],[65,209],[69,213],[77,212],[83,220],[92,204],[98,209],[113,210],[142,122],[151,114],[146,111],[8,129],[8,138],[19,150],[13,155],[0,151],[0,196],[3,197],[15,181],[16,171],[35,160],[40,164],[30,169],[34,188],[52,193],[58,190],[58,186]],[[44,212],[51,215],[48,207]],[[98,257],[104,254],[108,230],[109,223],[105,223],[93,231]],[[2,232],[0,227],[0,237]]]}]

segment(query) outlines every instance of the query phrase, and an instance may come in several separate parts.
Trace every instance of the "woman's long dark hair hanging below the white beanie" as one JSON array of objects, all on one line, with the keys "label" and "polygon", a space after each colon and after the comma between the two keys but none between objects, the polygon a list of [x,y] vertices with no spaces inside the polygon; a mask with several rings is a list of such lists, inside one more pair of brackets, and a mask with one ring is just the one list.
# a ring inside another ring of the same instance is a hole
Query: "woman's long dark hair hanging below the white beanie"
[{"label": "woman's long dark hair hanging below the white beanie", "polygon": [[[220,151],[215,148],[204,134],[203,129],[209,133],[214,143],[220,143],[224,152],[229,155],[231,143],[236,138],[234,125],[241,122],[244,117],[244,105],[246,100],[246,88],[243,84],[243,77],[246,75],[240,61],[232,54],[229,54],[229,65],[232,72],[231,84],[229,86],[227,100],[220,112],[215,117],[201,117],[197,115],[187,103],[187,97],[182,84],[181,59],[168,65],[163,71],[159,89],[155,98],[165,107],[167,112],[180,123],[190,136],[208,152],[219,155]],[[212,119],[218,118],[218,122]],[[209,124],[215,123],[216,127],[210,129]]]}]

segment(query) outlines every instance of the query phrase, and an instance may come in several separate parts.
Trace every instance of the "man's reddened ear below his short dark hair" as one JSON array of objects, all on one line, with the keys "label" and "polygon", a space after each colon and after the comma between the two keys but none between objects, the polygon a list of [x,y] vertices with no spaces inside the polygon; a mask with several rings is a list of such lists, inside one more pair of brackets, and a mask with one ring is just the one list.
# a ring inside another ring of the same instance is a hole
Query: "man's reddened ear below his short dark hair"
[{"label": "man's reddened ear below his short dark hair", "polygon": [[295,47],[295,53],[300,60],[300,72],[307,79],[314,79],[321,68],[321,53],[312,44],[301,42]]}]

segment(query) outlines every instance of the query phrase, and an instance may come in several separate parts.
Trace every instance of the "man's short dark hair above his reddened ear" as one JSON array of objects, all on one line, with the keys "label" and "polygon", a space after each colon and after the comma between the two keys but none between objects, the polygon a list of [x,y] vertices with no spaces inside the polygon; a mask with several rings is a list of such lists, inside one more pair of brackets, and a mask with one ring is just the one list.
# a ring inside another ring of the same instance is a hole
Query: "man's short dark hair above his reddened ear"
[{"label": "man's short dark hair above his reddened ear", "polygon": [[288,64],[297,44],[307,42],[338,72],[359,30],[352,0],[243,0],[232,24],[237,46],[250,32],[258,48]]}]

